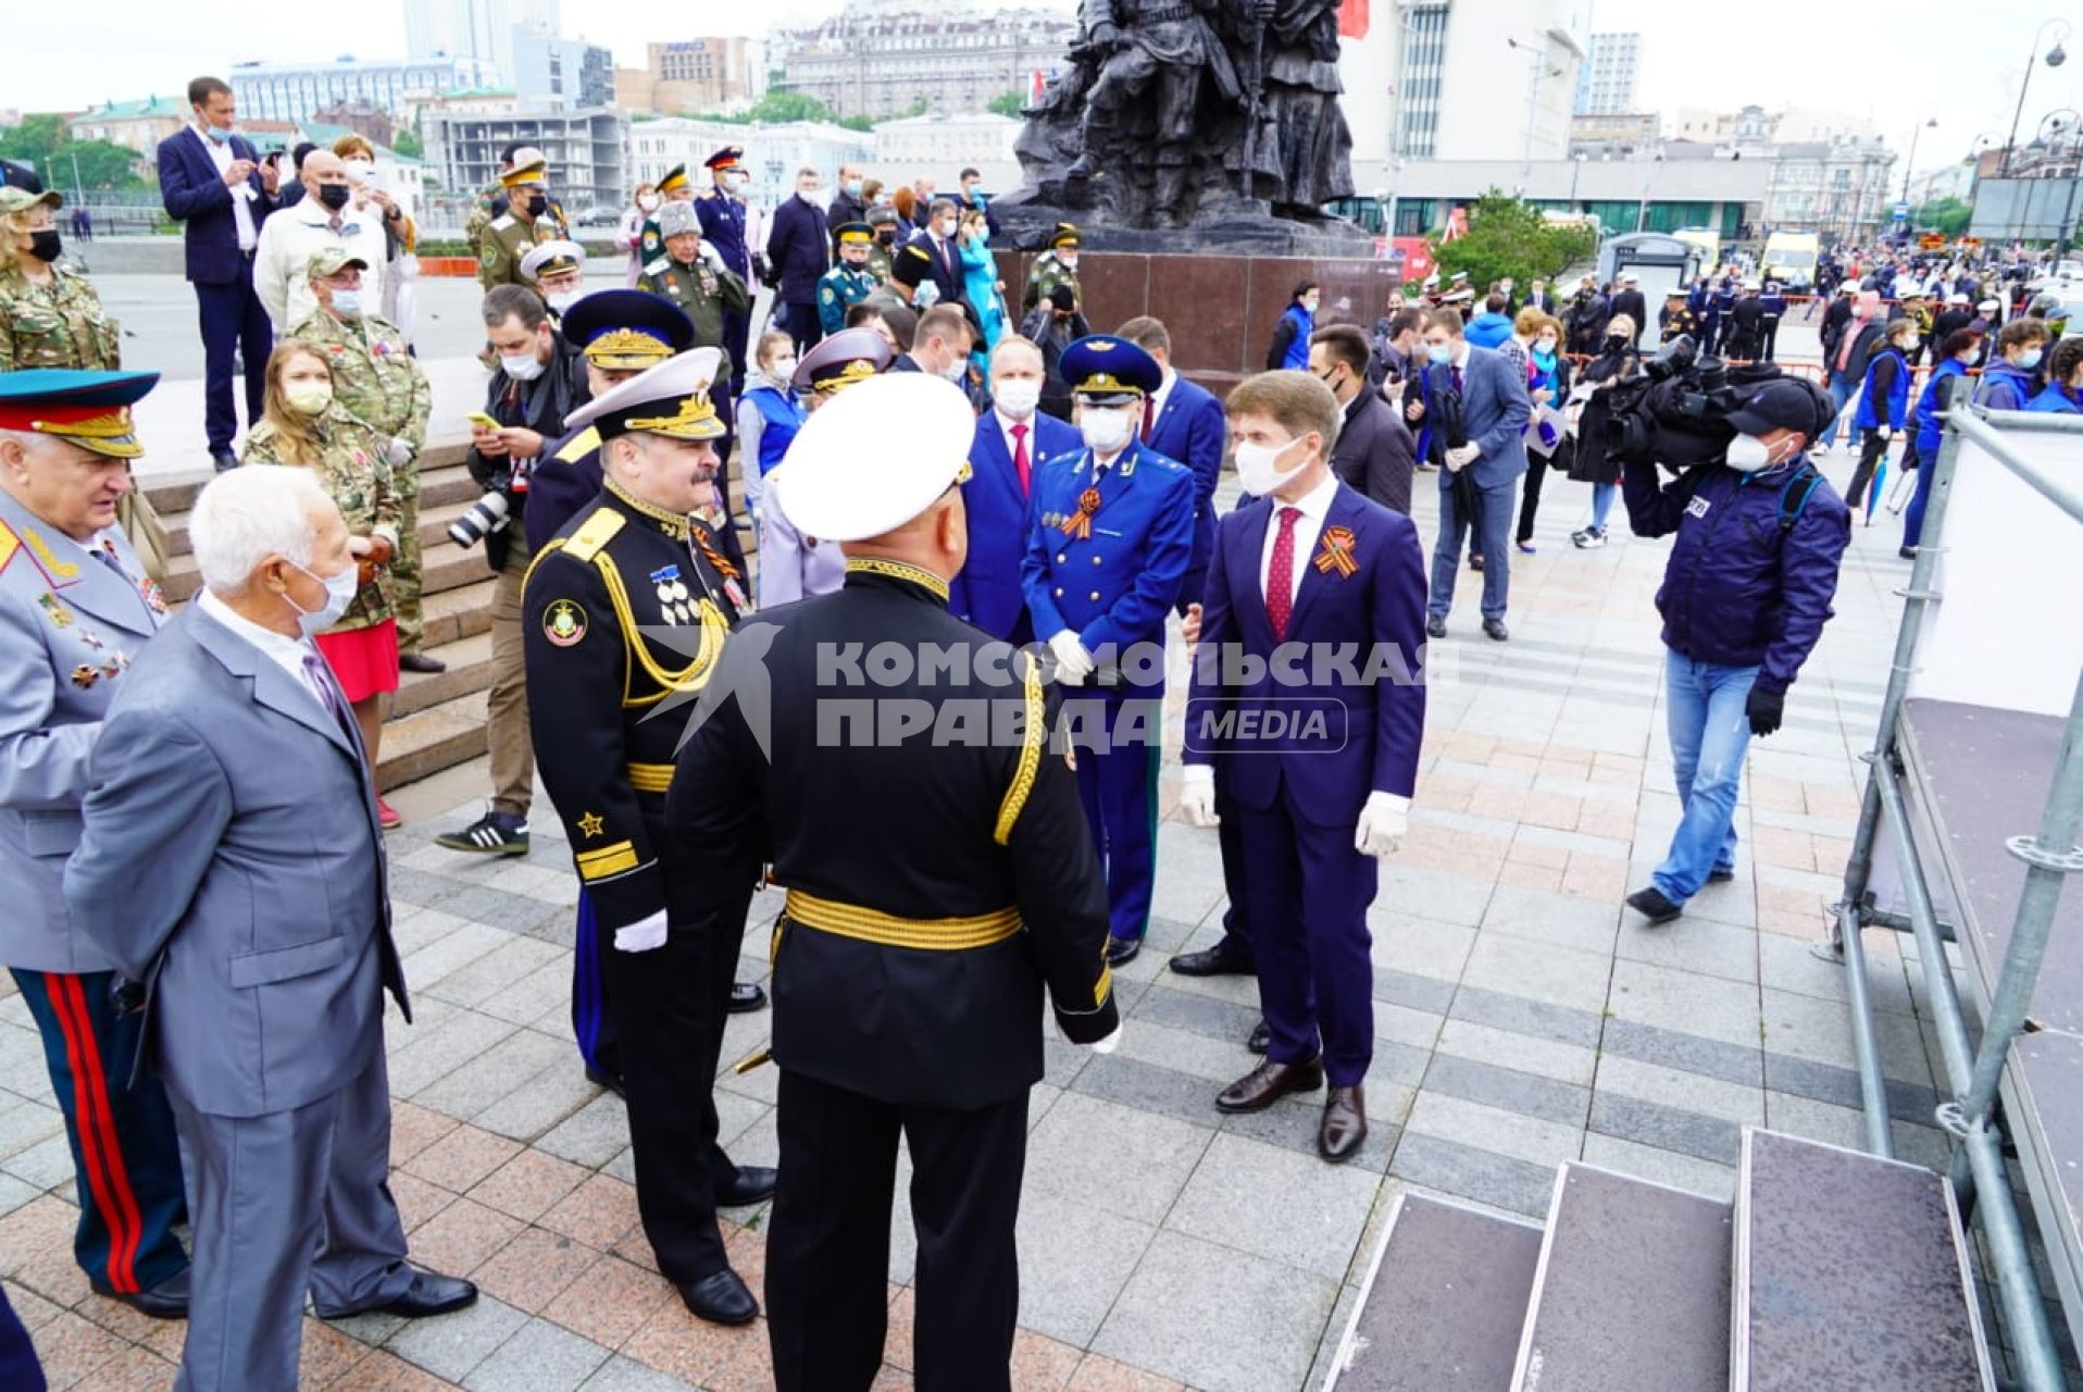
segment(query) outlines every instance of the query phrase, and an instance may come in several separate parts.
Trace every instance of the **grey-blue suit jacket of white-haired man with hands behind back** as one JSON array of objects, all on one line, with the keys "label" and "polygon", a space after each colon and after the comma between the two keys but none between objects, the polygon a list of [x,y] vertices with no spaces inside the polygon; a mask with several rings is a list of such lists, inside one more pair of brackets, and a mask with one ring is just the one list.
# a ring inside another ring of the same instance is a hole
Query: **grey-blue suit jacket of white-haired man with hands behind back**
[{"label": "grey-blue suit jacket of white-haired man with hands behind back", "polygon": [[146,984],[146,1050],[196,1111],[315,1102],[410,1019],[360,740],[187,608],[108,711],[65,896]]}]

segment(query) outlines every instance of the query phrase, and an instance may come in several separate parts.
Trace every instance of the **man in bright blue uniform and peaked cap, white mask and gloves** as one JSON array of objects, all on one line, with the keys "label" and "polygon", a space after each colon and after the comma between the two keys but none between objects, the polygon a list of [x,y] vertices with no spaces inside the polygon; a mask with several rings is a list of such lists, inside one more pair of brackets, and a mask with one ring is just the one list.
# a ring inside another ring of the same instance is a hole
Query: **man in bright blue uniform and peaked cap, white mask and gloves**
[{"label": "man in bright blue uniform and peaked cap, white mask and gloves", "polygon": [[[1135,959],[1150,927],[1164,729],[1164,615],[1194,554],[1194,475],[1137,444],[1162,381],[1135,344],[1094,333],[1062,354],[1085,448],[1035,475],[1021,588],[1077,748],[1077,792],[1106,867],[1106,959]],[[1100,729],[1096,729],[1100,727]]]}]

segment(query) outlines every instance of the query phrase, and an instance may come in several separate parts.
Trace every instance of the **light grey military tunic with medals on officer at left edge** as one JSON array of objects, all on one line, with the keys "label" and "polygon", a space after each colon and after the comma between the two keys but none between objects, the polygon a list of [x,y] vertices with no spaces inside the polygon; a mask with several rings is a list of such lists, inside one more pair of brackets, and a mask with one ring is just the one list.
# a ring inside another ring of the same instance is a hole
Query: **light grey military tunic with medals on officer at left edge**
[{"label": "light grey military tunic with medals on officer at left edge", "polygon": [[135,586],[0,492],[0,965],[115,967],[65,915],[65,856],[102,717],[165,623],[158,586],[117,538]]}]

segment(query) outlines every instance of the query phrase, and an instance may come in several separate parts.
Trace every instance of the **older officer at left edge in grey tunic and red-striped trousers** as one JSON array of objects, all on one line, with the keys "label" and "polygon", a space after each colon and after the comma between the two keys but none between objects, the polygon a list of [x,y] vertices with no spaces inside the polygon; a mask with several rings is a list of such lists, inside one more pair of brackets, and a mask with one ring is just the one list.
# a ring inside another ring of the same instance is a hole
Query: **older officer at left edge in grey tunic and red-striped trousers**
[{"label": "older officer at left edge in grey tunic and red-striped trousers", "polygon": [[[0,963],[44,1038],[79,1190],[73,1257],[96,1292],[187,1313],[181,1146],[156,1077],[127,1079],[137,1021],[115,961],[65,913],[87,756],[167,602],[117,525],[129,408],[158,373],[0,373]],[[0,1379],[4,1382],[4,1379]]]}]

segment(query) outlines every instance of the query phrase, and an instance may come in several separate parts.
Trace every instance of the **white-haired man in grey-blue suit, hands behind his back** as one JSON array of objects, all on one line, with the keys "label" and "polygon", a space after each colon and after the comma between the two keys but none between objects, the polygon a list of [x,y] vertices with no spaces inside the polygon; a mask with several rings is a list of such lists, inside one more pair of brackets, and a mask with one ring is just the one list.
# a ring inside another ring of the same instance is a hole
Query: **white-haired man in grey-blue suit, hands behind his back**
[{"label": "white-haired man in grey-blue suit, hands behind his back", "polygon": [[383,836],[348,702],[310,636],[356,592],[306,469],[196,500],[206,592],[135,663],[94,748],[73,923],[142,986],[146,1057],[192,1167],[183,1392],[292,1392],[325,1319],[477,1298],[406,1265],[383,990],[410,1021]]}]

